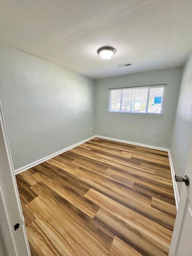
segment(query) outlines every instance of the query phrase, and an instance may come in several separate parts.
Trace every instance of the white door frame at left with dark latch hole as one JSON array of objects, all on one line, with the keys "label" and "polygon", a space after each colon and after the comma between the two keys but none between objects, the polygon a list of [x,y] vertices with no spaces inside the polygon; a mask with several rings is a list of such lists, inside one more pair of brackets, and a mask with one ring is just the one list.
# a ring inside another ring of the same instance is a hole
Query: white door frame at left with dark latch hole
[{"label": "white door frame at left with dark latch hole", "polygon": [[[0,251],[2,256],[30,256],[14,168],[0,104]],[[3,251],[3,254],[2,254]]]}]

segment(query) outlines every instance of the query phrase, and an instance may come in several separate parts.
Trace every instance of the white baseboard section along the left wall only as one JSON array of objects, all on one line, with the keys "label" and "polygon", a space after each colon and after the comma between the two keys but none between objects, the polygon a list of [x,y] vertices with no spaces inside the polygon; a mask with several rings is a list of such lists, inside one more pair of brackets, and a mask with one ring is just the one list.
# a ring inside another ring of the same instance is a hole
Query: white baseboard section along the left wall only
[{"label": "white baseboard section along the left wall only", "polygon": [[62,150],[60,150],[60,151],[58,151],[58,152],[55,152],[55,153],[53,153],[53,154],[51,154],[51,155],[49,155],[49,156],[45,156],[44,158],[41,158],[40,160],[37,160],[37,161],[35,161],[35,162],[31,163],[31,164],[28,164],[28,165],[26,165],[26,166],[23,166],[23,167],[21,167],[21,168],[15,170],[14,173],[15,173],[15,175],[16,175],[16,174],[18,174],[18,173],[20,173],[20,172],[23,172],[23,171],[25,171],[25,170],[27,170],[27,169],[29,169],[29,168],[32,168],[33,166],[35,166],[35,165],[37,165],[37,164],[40,164],[40,163],[42,163],[42,162],[44,162],[44,161],[46,161],[46,160],[49,160],[50,158],[52,158],[52,157],[54,157],[54,156],[58,156],[59,154],[62,154],[63,152],[65,152],[65,151],[67,151],[67,150],[70,150],[70,149],[72,149],[72,148],[75,148],[76,146],[79,146],[80,144],[83,144],[84,142],[86,142],[86,141],[88,141],[88,140],[92,140],[93,138],[95,138],[95,136],[92,136],[92,137],[90,137],[90,138],[88,138],[88,139],[82,140],[82,141],[80,141],[80,142],[78,142],[78,143],[76,143],[76,144],[74,144],[74,145],[72,145],[72,146],[69,146],[69,147],[67,147],[67,148],[64,148],[64,149],[62,149]]}]

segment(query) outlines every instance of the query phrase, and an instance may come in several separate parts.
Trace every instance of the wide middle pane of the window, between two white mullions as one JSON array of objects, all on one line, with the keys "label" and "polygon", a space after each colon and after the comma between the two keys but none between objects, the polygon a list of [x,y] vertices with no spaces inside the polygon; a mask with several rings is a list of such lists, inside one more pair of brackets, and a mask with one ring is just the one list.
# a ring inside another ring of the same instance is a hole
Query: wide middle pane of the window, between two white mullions
[{"label": "wide middle pane of the window, between two white mullions", "polygon": [[145,113],[148,88],[123,90],[122,112]]}]

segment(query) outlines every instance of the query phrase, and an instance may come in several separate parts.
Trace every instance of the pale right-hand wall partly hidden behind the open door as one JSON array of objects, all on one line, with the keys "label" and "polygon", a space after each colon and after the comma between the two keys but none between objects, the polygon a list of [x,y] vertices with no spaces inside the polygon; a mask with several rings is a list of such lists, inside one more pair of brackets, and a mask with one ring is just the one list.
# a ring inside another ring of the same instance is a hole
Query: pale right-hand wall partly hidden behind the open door
[{"label": "pale right-hand wall partly hidden behind the open door", "polygon": [[[170,151],[174,171],[184,176],[188,152],[192,143],[192,53],[186,62],[182,75],[178,106]],[[180,194],[182,184],[177,183]]]}]

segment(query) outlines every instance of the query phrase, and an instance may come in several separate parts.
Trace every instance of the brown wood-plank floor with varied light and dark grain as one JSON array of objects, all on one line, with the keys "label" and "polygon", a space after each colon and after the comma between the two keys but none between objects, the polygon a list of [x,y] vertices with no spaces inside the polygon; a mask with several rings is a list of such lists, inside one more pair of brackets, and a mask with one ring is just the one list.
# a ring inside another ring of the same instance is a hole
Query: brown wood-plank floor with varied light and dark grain
[{"label": "brown wood-plank floor with varied light and dark grain", "polygon": [[168,153],[94,138],[16,176],[32,256],[168,255]]}]

